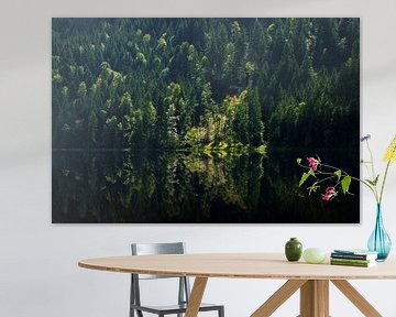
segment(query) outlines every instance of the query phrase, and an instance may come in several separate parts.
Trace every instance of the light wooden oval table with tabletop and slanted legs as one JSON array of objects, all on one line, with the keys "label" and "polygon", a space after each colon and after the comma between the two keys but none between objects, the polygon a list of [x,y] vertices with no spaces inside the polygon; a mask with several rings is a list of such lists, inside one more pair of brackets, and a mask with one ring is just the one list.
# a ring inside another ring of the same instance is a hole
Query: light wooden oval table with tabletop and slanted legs
[{"label": "light wooden oval table with tabletop and slanted legs", "polygon": [[288,262],[282,253],[109,256],[82,260],[78,265],[110,272],[194,276],[186,317],[197,316],[209,277],[288,280],[251,317],[271,316],[298,289],[301,317],[328,317],[330,281],[365,316],[382,316],[346,280],[396,278],[395,259],[373,267],[353,267]]}]

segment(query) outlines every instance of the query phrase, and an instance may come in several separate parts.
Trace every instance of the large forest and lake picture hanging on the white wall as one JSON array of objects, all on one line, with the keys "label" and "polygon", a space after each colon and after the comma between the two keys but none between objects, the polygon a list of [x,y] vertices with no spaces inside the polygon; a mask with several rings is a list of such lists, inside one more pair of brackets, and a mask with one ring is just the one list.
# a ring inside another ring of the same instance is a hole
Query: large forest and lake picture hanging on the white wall
[{"label": "large forest and lake picture hanging on the white wall", "polygon": [[359,223],[360,19],[53,18],[52,150],[53,223]]}]

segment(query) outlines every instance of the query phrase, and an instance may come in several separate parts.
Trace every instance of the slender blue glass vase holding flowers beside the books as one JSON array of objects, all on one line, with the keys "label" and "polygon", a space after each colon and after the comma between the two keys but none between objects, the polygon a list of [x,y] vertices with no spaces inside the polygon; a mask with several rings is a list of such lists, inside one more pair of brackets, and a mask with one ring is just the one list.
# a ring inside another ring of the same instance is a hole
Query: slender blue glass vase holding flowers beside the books
[{"label": "slender blue glass vase holding flowers beside the books", "polygon": [[381,204],[377,204],[376,207],[375,227],[370,236],[367,247],[370,251],[378,252],[377,261],[385,261],[391,251],[392,241],[384,228]]}]

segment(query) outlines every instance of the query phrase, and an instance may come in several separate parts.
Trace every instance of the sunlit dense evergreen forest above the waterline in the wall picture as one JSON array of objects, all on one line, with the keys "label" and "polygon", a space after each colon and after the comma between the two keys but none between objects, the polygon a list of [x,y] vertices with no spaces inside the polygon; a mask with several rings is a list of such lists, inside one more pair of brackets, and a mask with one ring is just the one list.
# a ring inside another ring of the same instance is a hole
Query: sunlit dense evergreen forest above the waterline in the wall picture
[{"label": "sunlit dense evergreen forest above the waterline in the wall picture", "polygon": [[349,146],[359,35],[344,18],[53,19],[53,147]]}]

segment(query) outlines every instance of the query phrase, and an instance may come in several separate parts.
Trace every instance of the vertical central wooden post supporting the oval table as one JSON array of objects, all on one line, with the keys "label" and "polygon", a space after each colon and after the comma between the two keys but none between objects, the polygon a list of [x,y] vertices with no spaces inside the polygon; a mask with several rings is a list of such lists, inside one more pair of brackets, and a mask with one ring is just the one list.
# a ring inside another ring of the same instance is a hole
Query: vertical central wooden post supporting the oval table
[{"label": "vertical central wooden post supporting the oval table", "polygon": [[329,281],[309,280],[300,289],[300,317],[329,317]]}]

